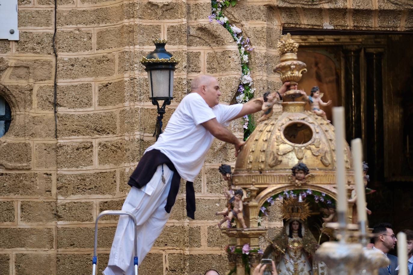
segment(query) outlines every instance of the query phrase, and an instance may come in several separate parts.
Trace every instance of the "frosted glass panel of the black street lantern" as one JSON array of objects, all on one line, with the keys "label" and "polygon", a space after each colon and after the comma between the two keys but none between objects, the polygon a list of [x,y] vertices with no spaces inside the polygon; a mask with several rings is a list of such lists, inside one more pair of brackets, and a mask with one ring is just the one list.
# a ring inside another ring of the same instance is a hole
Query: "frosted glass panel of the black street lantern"
[{"label": "frosted glass panel of the black street lantern", "polygon": [[[169,94],[169,89],[171,85],[173,85],[172,83],[170,84],[169,82],[170,71],[172,70],[148,71],[149,89],[152,94],[152,97],[157,98],[157,97],[171,97],[172,96],[172,90],[171,90],[171,94]],[[172,76],[173,76],[173,71],[172,71]],[[172,79],[171,79],[171,82],[173,82]]]}]

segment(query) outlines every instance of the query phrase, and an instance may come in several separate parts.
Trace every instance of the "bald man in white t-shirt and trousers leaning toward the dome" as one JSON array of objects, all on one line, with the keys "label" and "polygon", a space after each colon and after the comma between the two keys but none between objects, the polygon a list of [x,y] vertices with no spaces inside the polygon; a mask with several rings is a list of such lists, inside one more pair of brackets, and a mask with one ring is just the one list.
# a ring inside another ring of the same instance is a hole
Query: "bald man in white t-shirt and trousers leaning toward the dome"
[{"label": "bald man in white t-shirt and trousers leaning toward the dome", "polygon": [[[278,90],[280,96],[289,84],[286,82]],[[193,219],[195,193],[192,182],[201,171],[214,137],[234,144],[237,156],[244,141],[225,127],[231,120],[261,110],[262,97],[244,104],[219,104],[219,88],[213,76],[194,78],[191,93],[179,103],[164,132],[145,150],[131,175],[128,184],[132,187],[122,210],[133,213],[138,223],[138,264],[169,219],[180,177],[187,181],[187,212]],[[132,221],[127,216],[120,216],[104,275],[133,274],[133,234]]]}]

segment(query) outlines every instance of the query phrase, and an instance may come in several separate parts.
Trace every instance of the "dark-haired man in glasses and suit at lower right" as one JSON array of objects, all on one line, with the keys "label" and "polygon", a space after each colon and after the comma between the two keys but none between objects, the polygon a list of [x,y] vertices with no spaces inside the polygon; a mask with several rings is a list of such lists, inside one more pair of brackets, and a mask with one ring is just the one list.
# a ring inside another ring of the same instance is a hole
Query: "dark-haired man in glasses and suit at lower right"
[{"label": "dark-haired man in glasses and suit at lower right", "polygon": [[389,266],[379,268],[379,275],[397,275],[397,257],[388,254],[394,249],[397,242],[392,225],[390,223],[377,223],[373,227],[373,233],[375,234],[373,249],[380,251],[390,260]]}]

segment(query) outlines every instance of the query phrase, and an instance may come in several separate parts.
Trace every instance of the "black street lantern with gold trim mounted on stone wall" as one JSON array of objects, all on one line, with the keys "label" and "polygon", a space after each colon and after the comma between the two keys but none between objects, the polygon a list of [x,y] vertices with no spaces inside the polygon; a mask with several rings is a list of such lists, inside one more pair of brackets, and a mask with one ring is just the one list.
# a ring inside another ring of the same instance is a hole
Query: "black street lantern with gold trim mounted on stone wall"
[{"label": "black street lantern with gold trim mounted on stone wall", "polygon": [[[156,139],[162,134],[162,118],[164,118],[166,105],[171,104],[173,99],[173,71],[180,59],[176,59],[165,49],[166,40],[155,39],[155,50],[146,57],[142,56],[140,63],[145,66],[148,73],[150,99],[152,104],[158,108],[158,118],[155,127]],[[158,101],[164,101],[159,107]]]}]

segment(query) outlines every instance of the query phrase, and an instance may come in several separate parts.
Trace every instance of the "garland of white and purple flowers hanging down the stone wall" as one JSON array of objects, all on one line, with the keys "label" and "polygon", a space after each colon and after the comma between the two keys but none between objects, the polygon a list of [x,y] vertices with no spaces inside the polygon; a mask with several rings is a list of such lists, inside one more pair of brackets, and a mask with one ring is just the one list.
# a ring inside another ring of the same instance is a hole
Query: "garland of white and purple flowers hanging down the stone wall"
[{"label": "garland of white and purple flowers hanging down the stone wall", "polygon": [[[252,87],[253,81],[250,74],[251,70],[248,66],[248,61],[251,58],[250,53],[254,47],[251,47],[249,38],[242,35],[242,30],[234,24],[230,24],[228,18],[223,15],[223,10],[226,7],[229,7],[230,5],[234,7],[237,2],[238,0],[212,0],[212,14],[209,15],[208,18],[209,22],[216,20],[216,22],[226,28],[234,41],[237,42],[241,56],[242,75],[240,78],[241,83],[237,90],[240,94],[236,97],[236,100],[238,103],[245,103],[254,97],[255,92],[255,88]],[[244,125],[242,125],[242,127],[244,128],[244,140],[246,140],[255,129],[255,122],[251,115],[244,115]]]}]

